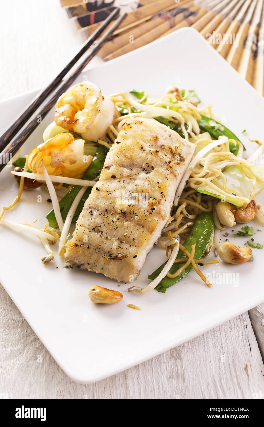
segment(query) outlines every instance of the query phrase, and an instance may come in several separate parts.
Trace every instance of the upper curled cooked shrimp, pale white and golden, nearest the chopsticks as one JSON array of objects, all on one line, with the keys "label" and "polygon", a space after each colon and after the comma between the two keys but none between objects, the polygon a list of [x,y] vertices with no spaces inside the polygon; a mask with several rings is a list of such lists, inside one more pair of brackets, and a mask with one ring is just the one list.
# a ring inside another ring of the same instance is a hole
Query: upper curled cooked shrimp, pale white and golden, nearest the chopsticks
[{"label": "upper curled cooked shrimp, pale white and golden, nearest the chopsticks", "polygon": [[112,124],[114,114],[113,102],[104,99],[101,89],[92,82],[83,82],[61,95],[55,105],[54,120],[57,126],[98,141]]}]

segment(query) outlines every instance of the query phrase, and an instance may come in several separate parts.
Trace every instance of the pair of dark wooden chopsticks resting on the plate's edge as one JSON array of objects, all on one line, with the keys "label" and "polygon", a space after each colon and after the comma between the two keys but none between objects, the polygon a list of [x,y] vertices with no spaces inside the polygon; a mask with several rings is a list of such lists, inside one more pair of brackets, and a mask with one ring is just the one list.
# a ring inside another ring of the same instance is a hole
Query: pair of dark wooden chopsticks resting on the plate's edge
[{"label": "pair of dark wooden chopsticks resting on the plate's edge", "polygon": [[[108,16],[106,20],[99,26],[99,28],[87,39],[84,45],[81,47],[79,52],[74,56],[74,58],[69,62],[69,64],[64,67],[64,69],[55,77],[55,79],[39,94],[30,105],[26,107],[26,109],[22,112],[20,117],[12,123],[11,126],[4,132],[4,134],[0,137],[0,172],[6,166],[6,163],[10,160],[12,155],[14,155],[29,135],[35,130],[35,128],[40,123],[39,117],[41,120],[44,119],[49,110],[55,105],[58,98],[73,84],[76,77],[81,73],[81,71],[86,67],[86,65],[90,62],[90,60],[96,55],[96,53],[101,49],[106,41],[109,40],[110,35],[113,34],[114,31],[119,27],[122,21],[126,17],[126,13],[122,14],[115,20],[113,25],[107,29],[102,37],[97,41],[97,43],[92,47],[88,55],[84,58],[81,64],[62,82],[64,76],[70,72],[72,67],[76,64],[76,62],[84,55],[84,53],[89,49],[92,44],[97,40],[99,35],[106,29],[107,25],[119,14],[119,8],[113,10],[113,12]],[[59,86],[61,84],[61,86]],[[59,88],[58,88],[59,86]],[[57,91],[55,91],[55,89]],[[52,92],[55,93],[52,95],[50,99],[41,107],[41,104],[49,97]],[[38,109],[38,110],[37,110]],[[32,119],[27,123],[32,114],[35,115]],[[26,124],[27,123],[27,124]],[[26,125],[26,126],[25,126]],[[25,126],[23,128],[23,126]],[[23,129],[22,129],[23,128]],[[22,130],[21,130],[22,129]],[[17,132],[21,132],[17,135]],[[17,136],[15,136],[17,135]],[[13,139],[15,138],[15,139]]]}]

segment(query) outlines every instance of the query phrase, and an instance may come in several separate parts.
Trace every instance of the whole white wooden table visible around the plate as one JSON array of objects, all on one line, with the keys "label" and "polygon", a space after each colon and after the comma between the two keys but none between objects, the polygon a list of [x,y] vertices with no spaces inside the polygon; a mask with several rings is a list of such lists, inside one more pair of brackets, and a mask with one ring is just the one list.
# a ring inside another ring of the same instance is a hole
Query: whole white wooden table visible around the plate
[{"label": "whole white wooden table visible around the plate", "polygon": [[[0,99],[46,85],[83,42],[59,0],[9,0],[1,5],[1,18]],[[13,399],[263,398],[263,313],[264,304],[139,366],[82,385],[55,363],[0,287],[0,395],[8,393]]]}]

